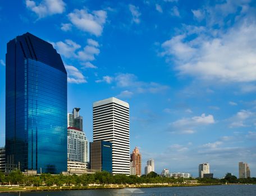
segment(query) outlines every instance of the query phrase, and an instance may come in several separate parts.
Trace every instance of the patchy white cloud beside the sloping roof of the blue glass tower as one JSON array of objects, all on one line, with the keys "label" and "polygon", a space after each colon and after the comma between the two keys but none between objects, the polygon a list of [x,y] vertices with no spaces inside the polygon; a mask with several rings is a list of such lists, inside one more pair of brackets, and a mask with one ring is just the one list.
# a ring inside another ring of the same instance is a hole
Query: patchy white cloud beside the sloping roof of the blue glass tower
[{"label": "patchy white cloud beside the sloping roof of the blue glass tower", "polygon": [[[57,49],[58,53],[66,58],[75,58],[81,60],[82,62],[92,61],[95,56],[99,54],[100,50],[98,48],[99,44],[93,39],[87,40],[88,45],[81,49],[81,45],[75,43],[72,40],[66,39],[65,41],[58,41],[52,43],[54,48]],[[92,63],[82,63],[86,68],[97,68]]]}]

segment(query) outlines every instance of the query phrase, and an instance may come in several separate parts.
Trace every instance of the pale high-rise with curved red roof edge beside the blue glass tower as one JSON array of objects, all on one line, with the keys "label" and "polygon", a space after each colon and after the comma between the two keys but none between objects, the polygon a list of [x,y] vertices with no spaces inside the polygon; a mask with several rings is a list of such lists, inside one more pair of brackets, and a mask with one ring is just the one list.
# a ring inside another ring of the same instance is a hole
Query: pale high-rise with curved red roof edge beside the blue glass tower
[{"label": "pale high-rise with curved red roof edge beside the blue glass tower", "polygon": [[69,161],[86,163],[89,161],[88,140],[83,130],[67,128],[67,158]]}]

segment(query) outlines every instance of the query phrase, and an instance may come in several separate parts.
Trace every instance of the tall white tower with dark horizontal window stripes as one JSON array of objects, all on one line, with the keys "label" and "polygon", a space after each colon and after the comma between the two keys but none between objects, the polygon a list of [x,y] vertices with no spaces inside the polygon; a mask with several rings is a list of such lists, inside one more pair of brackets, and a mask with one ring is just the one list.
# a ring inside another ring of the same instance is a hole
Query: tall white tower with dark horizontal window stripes
[{"label": "tall white tower with dark horizontal window stripes", "polygon": [[113,174],[130,174],[129,104],[111,97],[93,103],[93,141],[112,143]]}]

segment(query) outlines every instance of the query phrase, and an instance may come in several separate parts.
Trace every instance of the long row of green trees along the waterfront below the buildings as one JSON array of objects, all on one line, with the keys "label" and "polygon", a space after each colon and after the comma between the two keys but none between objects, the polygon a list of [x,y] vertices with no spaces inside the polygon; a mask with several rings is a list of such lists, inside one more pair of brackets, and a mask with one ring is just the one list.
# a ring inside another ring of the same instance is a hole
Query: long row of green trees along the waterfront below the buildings
[{"label": "long row of green trees along the waterfront below the buildings", "polygon": [[[156,174],[156,172],[150,172],[147,176],[135,176],[135,175],[112,175],[109,172],[95,172],[95,174],[83,174],[83,175],[51,175],[41,174],[37,176],[27,176],[22,174],[20,170],[13,170],[8,175],[0,173],[0,183],[11,185],[23,185],[23,186],[62,186],[62,185],[88,185],[88,184],[156,184],[156,183],[168,183],[168,184],[182,184],[185,180],[194,180],[193,178],[164,178]],[[202,184],[225,184],[225,183],[243,183],[243,184],[256,184],[256,178],[237,179],[236,176],[227,174],[224,179],[198,179],[198,183]]]}]

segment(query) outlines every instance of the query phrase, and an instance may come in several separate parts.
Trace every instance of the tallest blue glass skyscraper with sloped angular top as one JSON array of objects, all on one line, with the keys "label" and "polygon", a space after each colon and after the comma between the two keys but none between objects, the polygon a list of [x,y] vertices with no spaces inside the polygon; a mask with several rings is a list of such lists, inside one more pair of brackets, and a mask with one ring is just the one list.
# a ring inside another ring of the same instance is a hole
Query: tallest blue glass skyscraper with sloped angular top
[{"label": "tallest blue glass skyscraper with sloped angular top", "polygon": [[7,44],[6,169],[67,171],[67,72],[52,44],[27,32]]}]

